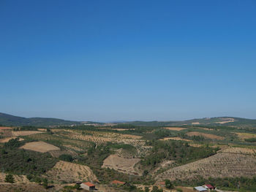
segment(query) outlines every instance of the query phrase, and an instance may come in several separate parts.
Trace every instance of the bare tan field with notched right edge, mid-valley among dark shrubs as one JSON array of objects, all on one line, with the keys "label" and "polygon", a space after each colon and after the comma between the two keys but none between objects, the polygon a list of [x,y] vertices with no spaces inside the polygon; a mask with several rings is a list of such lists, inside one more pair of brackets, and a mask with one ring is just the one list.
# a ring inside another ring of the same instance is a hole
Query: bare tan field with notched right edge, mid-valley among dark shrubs
[{"label": "bare tan field with notched right edge, mid-valley among dark shrubs", "polygon": [[135,171],[135,164],[140,161],[140,158],[121,158],[118,155],[109,155],[105,158],[102,167],[115,169],[118,172],[124,172],[126,174],[140,174]]}]

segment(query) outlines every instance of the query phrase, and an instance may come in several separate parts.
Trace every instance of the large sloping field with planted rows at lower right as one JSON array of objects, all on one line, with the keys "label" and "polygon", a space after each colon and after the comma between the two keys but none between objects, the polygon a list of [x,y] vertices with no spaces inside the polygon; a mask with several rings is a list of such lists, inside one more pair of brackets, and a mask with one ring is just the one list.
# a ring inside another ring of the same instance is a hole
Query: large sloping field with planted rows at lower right
[{"label": "large sloping field with planted rows at lower right", "polygon": [[157,176],[157,180],[188,180],[198,176],[252,177],[256,174],[256,158],[239,153],[217,153],[190,164],[176,166]]}]

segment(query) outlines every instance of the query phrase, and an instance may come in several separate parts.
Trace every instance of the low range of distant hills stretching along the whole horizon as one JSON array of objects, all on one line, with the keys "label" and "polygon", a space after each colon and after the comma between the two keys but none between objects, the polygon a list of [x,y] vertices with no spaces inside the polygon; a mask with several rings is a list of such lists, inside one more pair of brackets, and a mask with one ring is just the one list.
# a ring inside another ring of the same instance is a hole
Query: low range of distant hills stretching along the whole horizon
[{"label": "low range of distant hills stretching along the whole horizon", "polygon": [[[246,126],[256,128],[256,120],[233,117],[200,118],[180,121],[131,121],[121,123],[130,123],[135,126]],[[0,112],[1,126],[71,126],[80,124],[102,125],[105,123],[62,120],[58,118],[21,118]]]}]

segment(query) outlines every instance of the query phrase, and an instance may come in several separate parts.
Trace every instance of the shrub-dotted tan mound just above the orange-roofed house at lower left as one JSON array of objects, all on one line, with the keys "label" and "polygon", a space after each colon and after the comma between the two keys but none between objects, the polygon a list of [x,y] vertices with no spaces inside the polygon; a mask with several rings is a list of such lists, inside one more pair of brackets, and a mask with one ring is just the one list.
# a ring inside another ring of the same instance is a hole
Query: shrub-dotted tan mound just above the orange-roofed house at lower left
[{"label": "shrub-dotted tan mound just above the orange-roofed house at lower left", "polygon": [[97,177],[91,171],[89,166],[80,164],[69,163],[66,161],[59,161],[53,169],[48,171],[46,175],[50,180],[56,180],[57,182],[81,182],[81,181],[97,181]]}]

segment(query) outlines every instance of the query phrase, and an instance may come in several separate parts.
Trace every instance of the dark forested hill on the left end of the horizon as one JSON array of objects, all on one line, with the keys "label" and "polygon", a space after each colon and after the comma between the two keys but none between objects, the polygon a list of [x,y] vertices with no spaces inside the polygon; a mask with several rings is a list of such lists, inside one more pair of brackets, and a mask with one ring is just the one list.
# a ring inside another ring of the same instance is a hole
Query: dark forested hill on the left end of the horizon
[{"label": "dark forested hill on the left end of the horizon", "polygon": [[1,126],[69,126],[73,124],[80,124],[80,122],[57,118],[21,118],[0,112]]}]

